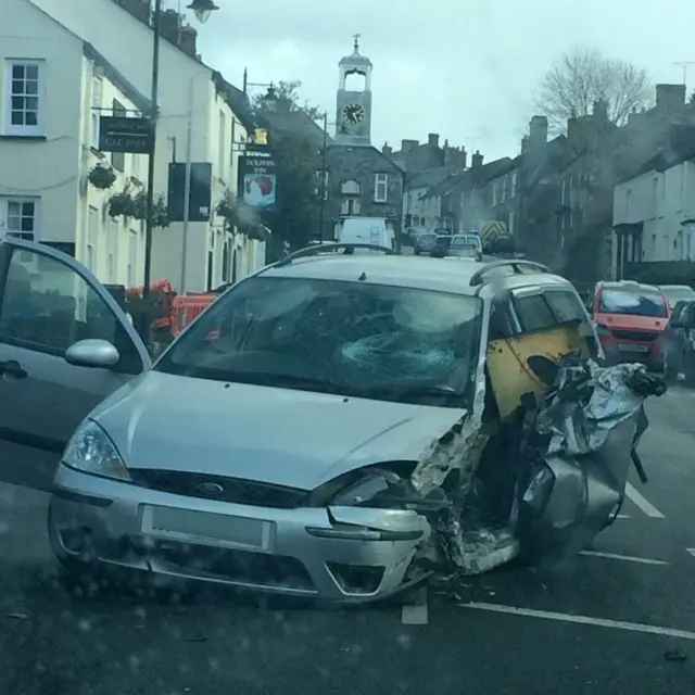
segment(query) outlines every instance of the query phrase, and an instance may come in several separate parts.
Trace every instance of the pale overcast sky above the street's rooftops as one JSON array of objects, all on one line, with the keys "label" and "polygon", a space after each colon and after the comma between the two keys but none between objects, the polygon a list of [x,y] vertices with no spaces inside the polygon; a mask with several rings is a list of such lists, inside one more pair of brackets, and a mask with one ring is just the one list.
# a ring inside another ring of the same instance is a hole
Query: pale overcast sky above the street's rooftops
[{"label": "pale overcast sky above the street's rooftops", "polygon": [[241,87],[244,66],[253,83],[301,80],[302,98],[334,119],[338,61],[359,33],[375,65],[372,142],[439,132],[486,161],[518,152],[534,87],[573,45],[644,66],[655,83],[681,83],[674,63],[695,61],[692,0],[216,3],[220,11],[198,27],[200,49],[231,83]]}]

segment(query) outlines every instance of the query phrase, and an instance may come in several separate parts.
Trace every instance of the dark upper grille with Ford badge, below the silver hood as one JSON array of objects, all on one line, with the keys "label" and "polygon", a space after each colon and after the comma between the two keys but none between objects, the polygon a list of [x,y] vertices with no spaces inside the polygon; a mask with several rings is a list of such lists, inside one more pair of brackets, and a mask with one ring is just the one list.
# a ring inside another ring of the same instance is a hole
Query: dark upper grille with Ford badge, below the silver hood
[{"label": "dark upper grille with Ford badge, below the silver hood", "polygon": [[[306,503],[308,495],[306,491],[295,488],[189,471],[140,468],[131,469],[130,476],[132,482],[150,490],[187,497],[248,504],[253,507],[295,509]],[[215,490],[215,485],[222,490]]]}]

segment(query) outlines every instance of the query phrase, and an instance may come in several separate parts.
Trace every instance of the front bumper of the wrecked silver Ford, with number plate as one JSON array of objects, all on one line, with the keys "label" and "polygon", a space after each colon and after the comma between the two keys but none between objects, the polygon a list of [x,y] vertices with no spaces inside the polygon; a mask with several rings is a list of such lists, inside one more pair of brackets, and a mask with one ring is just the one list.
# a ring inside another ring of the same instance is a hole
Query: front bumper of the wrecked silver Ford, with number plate
[{"label": "front bumper of the wrecked silver Ford, with number plate", "polygon": [[415,511],[277,509],[186,497],[61,465],[49,508],[59,561],[128,568],[336,603],[369,602],[426,578],[430,527]]}]

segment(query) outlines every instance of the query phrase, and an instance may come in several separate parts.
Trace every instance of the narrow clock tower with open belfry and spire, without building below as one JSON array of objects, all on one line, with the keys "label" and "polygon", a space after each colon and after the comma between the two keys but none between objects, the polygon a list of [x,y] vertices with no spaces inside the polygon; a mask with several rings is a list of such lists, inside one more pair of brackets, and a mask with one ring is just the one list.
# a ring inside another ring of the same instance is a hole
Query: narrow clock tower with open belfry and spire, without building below
[{"label": "narrow clock tower with open belfry and spire, without building below", "polygon": [[[371,61],[359,53],[359,34],[354,36],[352,55],[339,63],[336,105],[336,144],[371,144]],[[348,77],[363,78],[362,89],[346,89]]]}]

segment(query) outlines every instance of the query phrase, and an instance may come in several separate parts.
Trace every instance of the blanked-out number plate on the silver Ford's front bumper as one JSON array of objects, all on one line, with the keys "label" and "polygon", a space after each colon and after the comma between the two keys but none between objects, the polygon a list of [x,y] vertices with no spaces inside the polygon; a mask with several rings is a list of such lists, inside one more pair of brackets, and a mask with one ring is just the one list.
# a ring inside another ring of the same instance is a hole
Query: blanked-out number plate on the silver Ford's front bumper
[{"label": "blanked-out number plate on the silver Ford's front bumper", "polygon": [[267,551],[274,523],[194,509],[146,505],[142,533],[182,543]]}]

